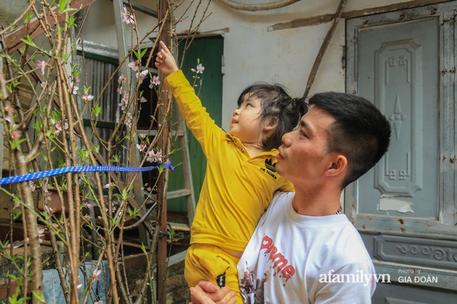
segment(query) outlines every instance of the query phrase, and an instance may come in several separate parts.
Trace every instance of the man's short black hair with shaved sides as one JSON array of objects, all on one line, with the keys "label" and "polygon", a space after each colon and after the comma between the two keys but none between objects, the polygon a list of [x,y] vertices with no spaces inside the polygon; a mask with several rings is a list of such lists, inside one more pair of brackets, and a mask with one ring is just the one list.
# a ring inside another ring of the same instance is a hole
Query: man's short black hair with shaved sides
[{"label": "man's short black hair with shaved sides", "polygon": [[348,159],[342,188],[368,172],[386,153],[391,124],[373,103],[348,93],[328,92],[313,95],[309,104],[336,120],[328,130],[328,152],[341,153]]}]

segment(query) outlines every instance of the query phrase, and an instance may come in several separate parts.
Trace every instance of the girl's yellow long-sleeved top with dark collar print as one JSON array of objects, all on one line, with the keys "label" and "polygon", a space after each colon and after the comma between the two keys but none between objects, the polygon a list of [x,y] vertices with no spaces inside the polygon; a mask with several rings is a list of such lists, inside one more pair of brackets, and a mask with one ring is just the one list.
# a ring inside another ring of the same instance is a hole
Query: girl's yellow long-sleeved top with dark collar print
[{"label": "girl's yellow long-sleeved top with dark collar print", "polygon": [[243,251],[276,190],[293,186],[276,173],[274,149],[250,157],[243,143],[217,126],[181,70],[165,79],[207,159],[191,226],[191,243]]}]

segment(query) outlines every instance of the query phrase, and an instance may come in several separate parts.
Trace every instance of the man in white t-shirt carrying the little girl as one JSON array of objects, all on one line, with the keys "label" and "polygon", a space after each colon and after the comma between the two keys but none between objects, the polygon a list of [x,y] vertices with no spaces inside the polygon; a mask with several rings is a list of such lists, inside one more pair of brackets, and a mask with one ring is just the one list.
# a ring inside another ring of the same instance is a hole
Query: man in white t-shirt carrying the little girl
[{"label": "man in white t-shirt carrying the little girl", "polygon": [[[320,93],[309,104],[298,129],[283,136],[276,157],[276,171],[296,192],[273,198],[238,263],[241,276],[246,265],[260,278],[271,272],[257,287],[263,298],[246,297],[245,303],[371,303],[373,263],[340,214],[340,197],[386,153],[391,126],[355,95]],[[194,303],[231,300],[228,290],[213,291],[202,282],[191,290]]]}]

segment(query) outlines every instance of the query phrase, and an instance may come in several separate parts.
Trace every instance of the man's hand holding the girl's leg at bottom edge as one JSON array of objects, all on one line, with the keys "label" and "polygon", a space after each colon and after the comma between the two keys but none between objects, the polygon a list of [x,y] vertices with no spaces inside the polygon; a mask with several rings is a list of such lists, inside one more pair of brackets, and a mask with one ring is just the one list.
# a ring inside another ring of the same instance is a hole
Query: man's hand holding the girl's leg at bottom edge
[{"label": "man's hand holding the girl's leg at bottom edge", "polygon": [[236,298],[228,286],[219,288],[209,281],[200,281],[191,287],[191,301],[190,304],[233,304]]}]

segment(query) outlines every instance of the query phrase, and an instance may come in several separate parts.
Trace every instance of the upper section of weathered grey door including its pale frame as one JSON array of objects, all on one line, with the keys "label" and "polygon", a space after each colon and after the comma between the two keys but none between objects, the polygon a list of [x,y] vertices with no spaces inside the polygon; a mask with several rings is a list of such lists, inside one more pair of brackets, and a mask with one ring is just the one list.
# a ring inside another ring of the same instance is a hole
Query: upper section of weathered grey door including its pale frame
[{"label": "upper section of weathered grey door including its pale frame", "polygon": [[457,239],[455,11],[452,1],[346,23],[346,90],[393,128],[385,157],[346,187],[361,231]]}]

